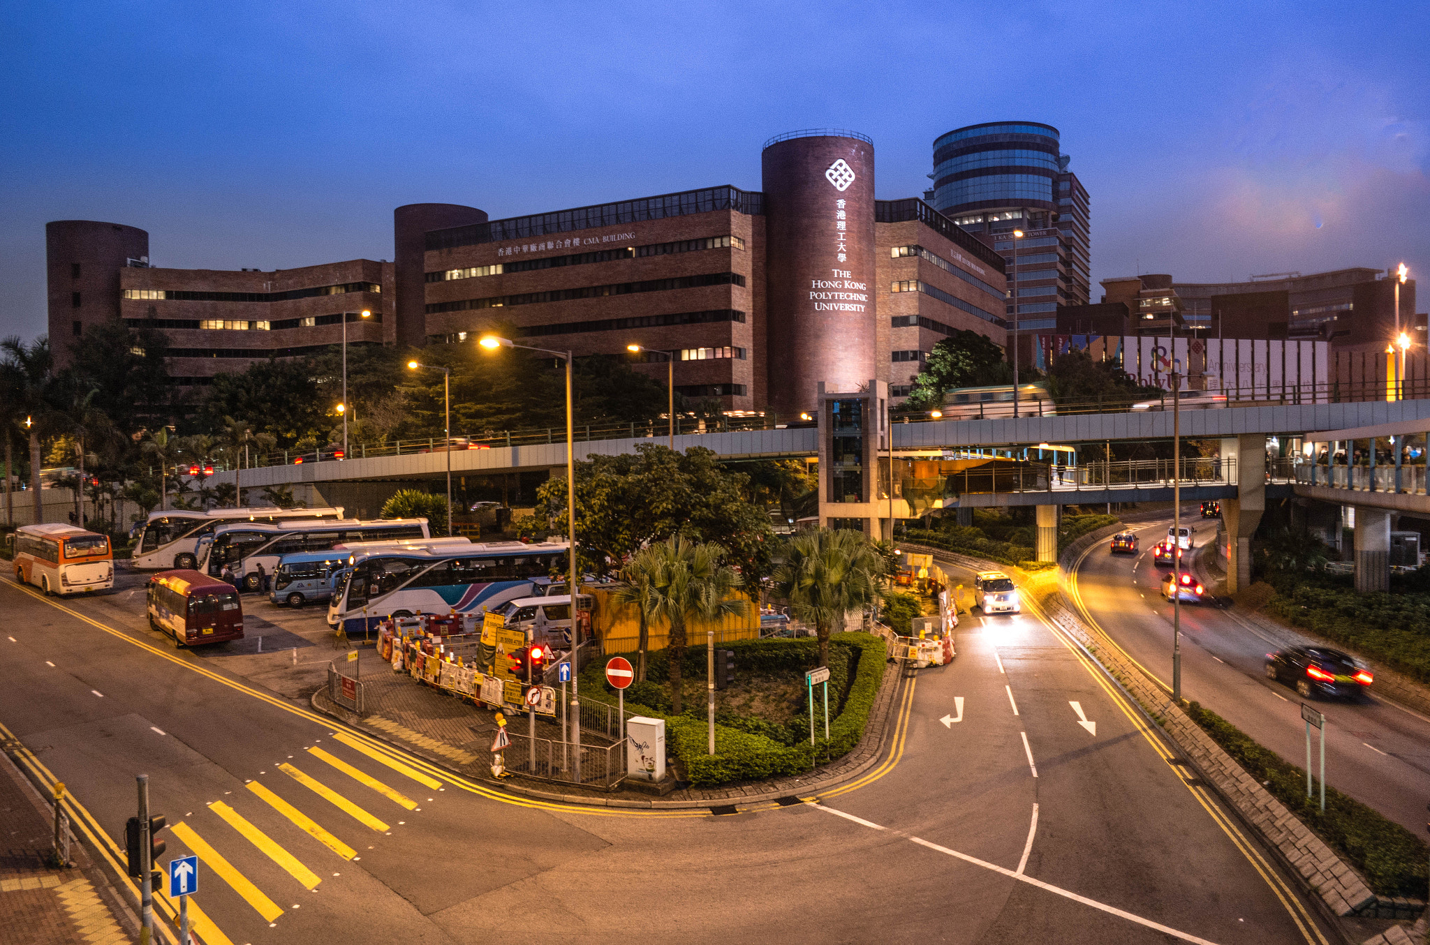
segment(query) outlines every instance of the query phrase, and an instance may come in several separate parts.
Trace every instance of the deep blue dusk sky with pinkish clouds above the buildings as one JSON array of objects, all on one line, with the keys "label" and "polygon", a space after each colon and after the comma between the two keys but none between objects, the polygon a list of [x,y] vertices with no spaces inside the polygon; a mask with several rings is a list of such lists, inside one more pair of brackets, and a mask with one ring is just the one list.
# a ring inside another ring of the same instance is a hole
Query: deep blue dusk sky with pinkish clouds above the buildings
[{"label": "deep blue dusk sky with pinkish clouds above the buildings", "polygon": [[403,203],[758,190],[795,129],[871,136],[878,197],[919,196],[934,137],[1004,119],[1061,129],[1094,283],[1430,273],[1430,4],[20,0],[0,23],[0,335],[46,330],[47,220],[146,229],[157,266],[392,259]]}]

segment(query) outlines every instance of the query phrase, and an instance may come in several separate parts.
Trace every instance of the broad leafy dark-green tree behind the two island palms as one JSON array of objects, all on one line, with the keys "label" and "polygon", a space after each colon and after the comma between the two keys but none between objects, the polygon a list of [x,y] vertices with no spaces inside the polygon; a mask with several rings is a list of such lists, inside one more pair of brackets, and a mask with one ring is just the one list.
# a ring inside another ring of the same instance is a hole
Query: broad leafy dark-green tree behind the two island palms
[{"label": "broad leafy dark-green tree behind the two island palms", "polygon": [[[746,500],[748,478],[721,466],[712,450],[641,443],[635,453],[578,462],[575,473],[576,539],[599,573],[672,535],[724,548],[746,586],[769,573],[769,516]],[[538,496],[546,518],[565,522],[563,476],[543,483]]]}]

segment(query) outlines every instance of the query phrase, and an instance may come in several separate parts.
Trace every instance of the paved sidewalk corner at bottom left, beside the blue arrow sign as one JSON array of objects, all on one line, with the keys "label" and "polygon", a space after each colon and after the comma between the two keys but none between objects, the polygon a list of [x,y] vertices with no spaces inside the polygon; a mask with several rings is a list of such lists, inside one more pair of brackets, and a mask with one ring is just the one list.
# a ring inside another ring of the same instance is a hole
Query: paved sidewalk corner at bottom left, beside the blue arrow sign
[{"label": "paved sidewalk corner at bottom left, beside the blue arrow sign", "polygon": [[114,916],[102,872],[79,842],[70,841],[70,866],[50,864],[51,818],[51,808],[0,753],[0,945],[133,942]]}]

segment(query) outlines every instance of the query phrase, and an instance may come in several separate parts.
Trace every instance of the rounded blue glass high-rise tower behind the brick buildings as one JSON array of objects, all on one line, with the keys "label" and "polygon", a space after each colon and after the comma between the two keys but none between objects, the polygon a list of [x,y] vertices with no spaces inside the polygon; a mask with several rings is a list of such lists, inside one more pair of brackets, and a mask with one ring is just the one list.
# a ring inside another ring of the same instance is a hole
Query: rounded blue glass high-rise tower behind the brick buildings
[{"label": "rounded blue glass high-rise tower behind the brick buildings", "polygon": [[1088,196],[1070,160],[1058,130],[1038,122],[970,124],[934,142],[934,186],[924,199],[1008,260],[1012,230],[1024,232],[1017,272],[1008,267],[1024,330],[1052,329],[1060,305],[1091,297]]}]

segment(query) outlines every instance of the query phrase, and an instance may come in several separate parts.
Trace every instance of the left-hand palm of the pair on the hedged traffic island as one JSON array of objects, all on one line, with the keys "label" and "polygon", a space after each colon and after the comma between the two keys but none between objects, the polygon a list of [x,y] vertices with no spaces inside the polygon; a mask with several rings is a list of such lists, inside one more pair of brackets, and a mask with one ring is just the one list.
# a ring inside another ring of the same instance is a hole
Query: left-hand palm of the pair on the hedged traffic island
[{"label": "left-hand palm of the pair on the hedged traffic island", "polygon": [[671,658],[671,711],[679,715],[686,622],[744,613],[749,602],[731,599],[741,579],[734,568],[721,563],[725,549],[719,545],[698,545],[676,535],[646,550],[658,559],[651,583],[649,619],[664,619],[671,625],[666,645]]}]

